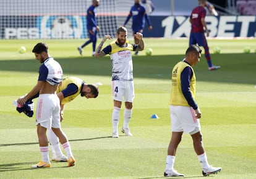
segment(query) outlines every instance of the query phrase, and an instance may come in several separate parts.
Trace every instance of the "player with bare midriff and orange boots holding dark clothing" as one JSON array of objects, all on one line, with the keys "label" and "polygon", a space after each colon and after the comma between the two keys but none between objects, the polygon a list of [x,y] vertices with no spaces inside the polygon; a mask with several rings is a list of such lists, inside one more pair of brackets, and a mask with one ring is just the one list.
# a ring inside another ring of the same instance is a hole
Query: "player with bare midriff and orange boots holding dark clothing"
[{"label": "player with bare midriff and orange boots holding dark clothing", "polygon": [[47,129],[52,129],[58,136],[67,153],[67,166],[73,166],[75,165],[75,159],[66,134],[61,130],[59,115],[61,107],[59,97],[56,95],[58,84],[62,81],[63,76],[61,65],[49,56],[48,46],[45,43],[40,42],[36,44],[32,52],[35,54],[36,60],[42,63],[39,69],[38,82],[25,97],[17,100],[17,103],[23,105],[25,101],[39,93],[36,107],[36,125],[42,161],[32,165],[32,167],[51,167],[48,153],[48,138],[46,135]]}]

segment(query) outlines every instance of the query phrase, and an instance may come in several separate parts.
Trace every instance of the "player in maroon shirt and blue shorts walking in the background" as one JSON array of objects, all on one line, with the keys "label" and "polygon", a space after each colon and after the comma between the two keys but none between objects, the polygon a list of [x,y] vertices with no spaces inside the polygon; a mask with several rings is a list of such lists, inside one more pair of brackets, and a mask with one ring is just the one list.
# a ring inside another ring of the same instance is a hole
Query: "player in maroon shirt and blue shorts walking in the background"
[{"label": "player in maroon shirt and blue shorts walking in the background", "polygon": [[203,30],[203,28],[205,28],[208,37],[209,31],[205,22],[205,15],[207,13],[204,8],[205,2],[206,0],[198,0],[199,6],[195,7],[191,12],[189,19],[189,22],[191,23],[189,46],[196,44],[198,44],[198,46],[202,46],[203,49],[205,49],[205,58],[207,58],[208,70],[216,70],[220,68],[220,66],[215,66],[211,63],[209,47]]}]

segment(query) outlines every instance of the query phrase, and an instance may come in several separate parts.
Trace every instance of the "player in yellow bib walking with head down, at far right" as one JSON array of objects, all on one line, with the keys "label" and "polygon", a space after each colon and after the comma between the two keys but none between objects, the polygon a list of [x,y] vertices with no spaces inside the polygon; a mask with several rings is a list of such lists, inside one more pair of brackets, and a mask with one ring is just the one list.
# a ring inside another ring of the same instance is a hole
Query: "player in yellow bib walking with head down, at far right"
[{"label": "player in yellow bib walking with head down, at far right", "polygon": [[195,72],[192,68],[200,61],[202,50],[195,45],[186,51],[186,58],[177,63],[172,71],[172,87],[170,100],[172,137],[168,146],[166,169],[164,177],[184,177],[184,174],[174,170],[177,146],[181,142],[183,132],[192,137],[194,150],[203,170],[203,176],[221,171],[221,167],[208,164],[207,154],[203,148],[202,133],[200,132],[201,111],[195,103]]}]

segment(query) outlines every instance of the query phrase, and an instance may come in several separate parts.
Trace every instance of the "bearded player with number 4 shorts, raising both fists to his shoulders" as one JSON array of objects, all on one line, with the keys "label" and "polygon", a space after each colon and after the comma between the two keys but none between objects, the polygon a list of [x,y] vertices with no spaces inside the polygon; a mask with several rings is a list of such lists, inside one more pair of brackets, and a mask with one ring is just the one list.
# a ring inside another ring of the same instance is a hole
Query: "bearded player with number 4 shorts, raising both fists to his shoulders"
[{"label": "bearded player with number 4 shorts, raising both fists to his shoulders", "polygon": [[133,81],[133,66],[132,66],[132,52],[141,51],[144,49],[144,42],[141,33],[136,33],[134,38],[139,41],[139,44],[130,44],[127,41],[127,29],[123,26],[117,29],[117,40],[111,42],[103,50],[101,50],[106,39],[111,39],[106,35],[96,49],[95,57],[104,57],[106,54],[110,55],[112,63],[112,93],[114,99],[114,109],[112,114],[113,123],[113,138],[119,137],[117,127],[119,123],[119,114],[122,104],[122,97],[126,108],[124,109],[124,124],[122,125],[122,132],[127,136],[131,136],[129,130],[129,122],[132,117],[132,101],[134,100],[134,81]]}]

